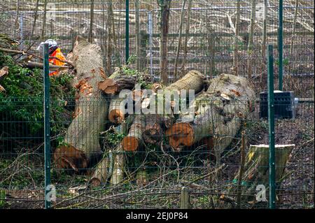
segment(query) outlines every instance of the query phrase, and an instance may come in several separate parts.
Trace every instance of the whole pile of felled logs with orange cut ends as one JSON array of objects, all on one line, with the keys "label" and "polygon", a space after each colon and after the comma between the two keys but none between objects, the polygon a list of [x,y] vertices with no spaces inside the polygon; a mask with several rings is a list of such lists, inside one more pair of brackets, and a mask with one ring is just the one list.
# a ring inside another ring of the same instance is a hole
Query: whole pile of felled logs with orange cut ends
[{"label": "whole pile of felled logs with orange cut ends", "polygon": [[[128,114],[125,106],[120,106],[123,99],[119,93],[123,89],[130,89],[136,100],[133,104],[140,103],[141,108],[146,107],[144,103],[152,103],[142,96],[141,89],[135,89],[137,77],[122,69],[106,75],[99,46],[84,38],[77,38],[72,54],[71,63],[76,69],[73,86],[78,89],[75,115],[66,131],[65,145],[56,148],[53,159],[57,168],[78,172],[87,168],[94,157],[103,156],[92,173],[92,185],[108,180],[114,185],[123,182],[125,152],[146,150],[145,145],[149,144],[160,145],[163,138],[174,152],[205,142],[209,150],[214,150],[219,164],[223,150],[251,113],[255,101],[255,92],[246,78],[221,74],[207,82],[199,71],[189,71],[167,87],[154,83],[152,88],[155,96],[162,96],[165,101],[161,92],[194,90],[195,99],[189,103],[192,112],[173,113],[174,103],[179,101],[172,101],[171,114]],[[156,93],[157,89],[162,91]],[[106,127],[126,132],[114,148],[101,146],[99,136],[107,131]]]}]

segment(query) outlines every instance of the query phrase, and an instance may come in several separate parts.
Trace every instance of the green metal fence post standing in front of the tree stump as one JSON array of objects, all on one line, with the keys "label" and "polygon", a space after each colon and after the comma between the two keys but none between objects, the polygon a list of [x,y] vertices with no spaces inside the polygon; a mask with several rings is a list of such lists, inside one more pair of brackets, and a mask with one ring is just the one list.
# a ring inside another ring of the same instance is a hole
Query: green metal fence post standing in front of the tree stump
[{"label": "green metal fence post standing in front of the tree stump", "polygon": [[269,208],[274,209],[275,190],[275,160],[274,160],[274,58],[273,47],[268,45],[268,126],[269,126]]}]

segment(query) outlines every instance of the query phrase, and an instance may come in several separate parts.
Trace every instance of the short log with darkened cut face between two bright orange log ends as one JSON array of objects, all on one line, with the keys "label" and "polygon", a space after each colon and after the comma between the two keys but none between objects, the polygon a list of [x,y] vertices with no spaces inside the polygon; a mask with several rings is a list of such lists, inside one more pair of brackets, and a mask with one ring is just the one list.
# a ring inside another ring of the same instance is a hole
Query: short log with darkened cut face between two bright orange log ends
[{"label": "short log with darkened cut face between two bright orange log ends", "polygon": [[144,142],[156,144],[162,140],[162,118],[160,115],[146,115],[146,127],[142,132],[142,138]]}]

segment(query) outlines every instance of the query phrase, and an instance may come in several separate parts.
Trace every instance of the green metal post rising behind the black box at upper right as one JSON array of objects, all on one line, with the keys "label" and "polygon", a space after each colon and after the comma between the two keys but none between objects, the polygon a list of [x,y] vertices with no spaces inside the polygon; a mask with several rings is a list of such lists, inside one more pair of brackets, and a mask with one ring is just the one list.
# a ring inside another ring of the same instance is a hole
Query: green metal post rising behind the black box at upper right
[{"label": "green metal post rising behind the black box at upper right", "polygon": [[283,89],[283,0],[279,0],[279,29],[278,29],[278,52],[279,52],[279,90]]}]

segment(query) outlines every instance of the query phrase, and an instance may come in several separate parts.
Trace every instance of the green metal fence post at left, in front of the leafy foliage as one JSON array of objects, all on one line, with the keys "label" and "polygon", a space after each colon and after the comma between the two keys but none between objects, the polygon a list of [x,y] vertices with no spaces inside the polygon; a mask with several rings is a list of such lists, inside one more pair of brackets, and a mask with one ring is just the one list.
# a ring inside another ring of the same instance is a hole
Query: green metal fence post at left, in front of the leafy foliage
[{"label": "green metal fence post at left, in front of the leafy foliage", "polygon": [[45,208],[48,209],[51,206],[50,199],[48,199],[48,193],[50,192],[50,120],[49,120],[49,107],[50,107],[50,80],[49,80],[49,54],[48,44],[43,45],[43,89],[44,89],[44,157],[45,157]]}]

